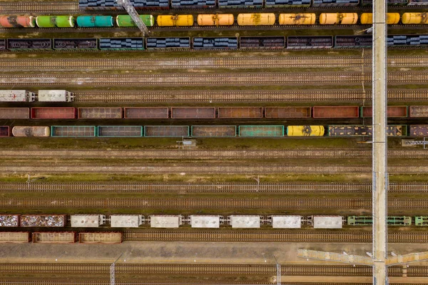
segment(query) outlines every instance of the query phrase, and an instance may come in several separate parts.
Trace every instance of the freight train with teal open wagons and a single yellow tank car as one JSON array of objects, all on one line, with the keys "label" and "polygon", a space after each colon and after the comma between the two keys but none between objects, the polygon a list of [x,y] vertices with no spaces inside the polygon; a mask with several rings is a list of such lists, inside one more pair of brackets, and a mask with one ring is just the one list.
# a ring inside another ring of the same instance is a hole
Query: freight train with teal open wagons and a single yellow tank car
[{"label": "freight train with teal open wagons and a single yellow tank car", "polygon": [[[10,132],[10,129],[12,130]],[[0,138],[17,137],[244,137],[283,138],[301,136],[372,136],[371,125],[193,125],[193,126],[0,126]],[[388,125],[387,136],[425,137],[428,125]]]}]

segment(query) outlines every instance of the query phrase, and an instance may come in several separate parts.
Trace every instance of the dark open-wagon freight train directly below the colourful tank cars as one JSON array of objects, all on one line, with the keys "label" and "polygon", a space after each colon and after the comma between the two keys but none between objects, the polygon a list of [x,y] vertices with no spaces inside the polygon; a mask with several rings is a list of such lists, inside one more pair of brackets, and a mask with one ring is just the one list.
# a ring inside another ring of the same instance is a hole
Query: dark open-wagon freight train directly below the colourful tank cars
[{"label": "dark open-wagon freight train directly below the colourful tank cars", "polygon": [[[0,51],[220,51],[370,49],[372,36],[195,36],[161,38],[0,39]],[[388,35],[389,48],[426,48],[428,34]]]}]

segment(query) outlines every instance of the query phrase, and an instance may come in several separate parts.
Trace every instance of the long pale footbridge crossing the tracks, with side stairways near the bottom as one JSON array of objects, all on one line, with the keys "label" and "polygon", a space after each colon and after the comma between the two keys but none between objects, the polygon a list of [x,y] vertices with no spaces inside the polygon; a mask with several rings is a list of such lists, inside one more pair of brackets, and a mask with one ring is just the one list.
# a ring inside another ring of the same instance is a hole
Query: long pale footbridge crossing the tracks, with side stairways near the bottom
[{"label": "long pale footbridge crossing the tracks, with side stairways near the bottom", "polygon": [[299,249],[297,255],[306,259],[340,261],[373,266],[373,284],[387,285],[387,266],[408,264],[428,258],[428,252],[387,256],[387,1],[373,0],[373,152],[372,209],[373,247],[368,256],[352,256],[333,252]]}]

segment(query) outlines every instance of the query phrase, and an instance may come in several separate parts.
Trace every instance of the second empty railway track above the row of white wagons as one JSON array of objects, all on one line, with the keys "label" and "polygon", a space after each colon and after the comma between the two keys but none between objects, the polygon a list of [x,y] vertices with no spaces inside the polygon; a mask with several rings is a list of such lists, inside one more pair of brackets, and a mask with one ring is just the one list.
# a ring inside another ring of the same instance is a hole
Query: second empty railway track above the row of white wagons
[{"label": "second empty railway track above the row of white wagons", "polygon": [[[0,182],[2,192],[46,193],[371,193],[371,183],[292,183],[292,184],[185,184],[121,182]],[[389,193],[426,193],[428,184],[389,184]]]}]

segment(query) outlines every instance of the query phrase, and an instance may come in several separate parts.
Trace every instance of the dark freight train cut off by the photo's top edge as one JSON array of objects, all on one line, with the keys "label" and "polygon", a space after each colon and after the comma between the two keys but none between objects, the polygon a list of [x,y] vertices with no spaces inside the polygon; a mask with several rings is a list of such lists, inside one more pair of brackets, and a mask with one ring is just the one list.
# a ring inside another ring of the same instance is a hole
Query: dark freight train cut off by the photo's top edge
[{"label": "dark freight train cut off by the photo's top edge", "polygon": [[[372,0],[131,0],[136,9],[255,9],[372,6]],[[388,6],[426,6],[427,0],[387,0]],[[121,10],[114,0],[79,0],[80,9]]]}]

